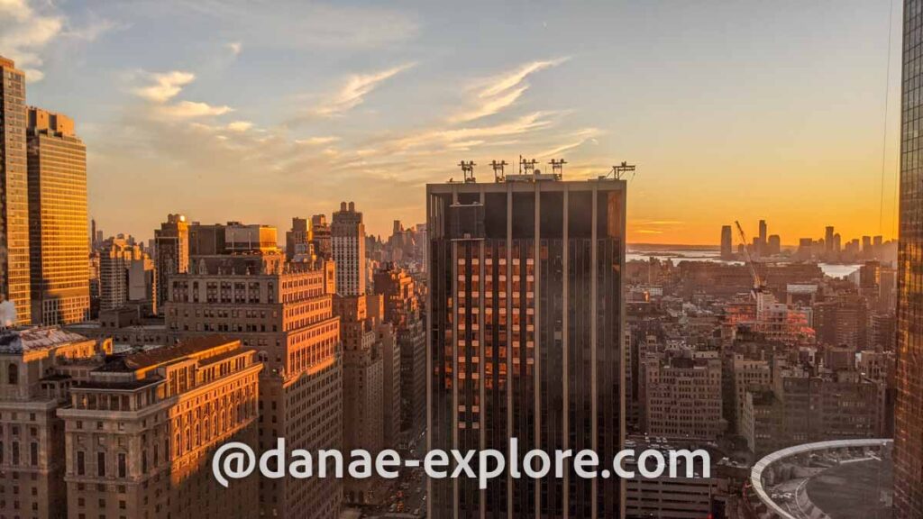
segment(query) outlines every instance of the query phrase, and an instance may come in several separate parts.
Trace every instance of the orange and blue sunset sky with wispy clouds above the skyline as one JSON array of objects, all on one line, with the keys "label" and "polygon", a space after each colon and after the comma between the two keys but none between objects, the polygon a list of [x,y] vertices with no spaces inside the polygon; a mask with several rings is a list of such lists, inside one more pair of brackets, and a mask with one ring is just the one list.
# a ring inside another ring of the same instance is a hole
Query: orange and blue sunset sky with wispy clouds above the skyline
[{"label": "orange and blue sunset sky with wispy clouds above the skyline", "polygon": [[106,235],[181,212],[282,236],[342,200],[389,235],[460,161],[522,155],[636,164],[632,243],[765,219],[795,244],[896,234],[901,6],[0,0],[0,55],[76,119]]}]

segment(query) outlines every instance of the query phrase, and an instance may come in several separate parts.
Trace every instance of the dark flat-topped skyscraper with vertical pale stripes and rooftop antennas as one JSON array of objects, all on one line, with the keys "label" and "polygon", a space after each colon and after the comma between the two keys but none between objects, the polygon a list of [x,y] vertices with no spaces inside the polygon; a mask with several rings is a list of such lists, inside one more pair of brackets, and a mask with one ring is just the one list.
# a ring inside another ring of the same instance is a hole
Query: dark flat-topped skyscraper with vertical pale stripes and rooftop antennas
[{"label": "dark flat-topped skyscraper with vertical pale stripes and rooftop antennas", "polygon": [[[625,430],[626,184],[559,175],[426,187],[431,449],[591,449]],[[622,517],[618,478],[430,480],[427,517]]]}]

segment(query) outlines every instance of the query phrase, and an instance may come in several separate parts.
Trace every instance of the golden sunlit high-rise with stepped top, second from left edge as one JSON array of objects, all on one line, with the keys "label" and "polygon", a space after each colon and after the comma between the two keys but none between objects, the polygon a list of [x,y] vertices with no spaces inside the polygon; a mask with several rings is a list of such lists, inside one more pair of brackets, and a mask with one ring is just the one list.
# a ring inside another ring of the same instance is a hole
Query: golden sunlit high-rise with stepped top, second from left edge
[{"label": "golden sunlit high-rise with stepped top, second from left edge", "polygon": [[88,320],[87,148],[73,119],[30,107],[27,149],[32,320]]}]

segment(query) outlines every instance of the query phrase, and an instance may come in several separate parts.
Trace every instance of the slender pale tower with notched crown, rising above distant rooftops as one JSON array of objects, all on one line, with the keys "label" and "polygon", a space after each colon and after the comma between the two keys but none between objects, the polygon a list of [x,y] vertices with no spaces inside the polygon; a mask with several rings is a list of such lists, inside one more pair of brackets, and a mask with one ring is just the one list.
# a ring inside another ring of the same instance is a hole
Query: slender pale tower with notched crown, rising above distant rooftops
[{"label": "slender pale tower with notched crown, rising above distant rooftops", "polygon": [[330,223],[333,261],[337,264],[337,294],[361,296],[366,293],[366,224],[354,202],[342,202]]}]

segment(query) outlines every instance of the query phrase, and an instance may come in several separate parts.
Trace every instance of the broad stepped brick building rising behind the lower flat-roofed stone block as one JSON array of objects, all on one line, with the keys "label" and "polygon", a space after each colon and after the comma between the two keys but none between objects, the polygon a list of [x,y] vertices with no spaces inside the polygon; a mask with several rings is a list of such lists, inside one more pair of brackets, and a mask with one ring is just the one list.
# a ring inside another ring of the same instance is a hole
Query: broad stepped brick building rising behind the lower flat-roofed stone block
[{"label": "broad stepped brick building rising behind the lower flat-roofed stone block", "polygon": [[[274,447],[277,438],[312,453],[342,449],[333,263],[284,259],[278,250],[197,259],[189,272],[170,278],[167,333],[178,341],[225,335],[257,350],[265,365],[259,377],[260,450]],[[260,516],[336,519],[341,502],[342,480],[335,477],[259,480]]]}]

